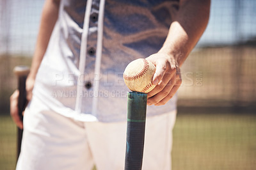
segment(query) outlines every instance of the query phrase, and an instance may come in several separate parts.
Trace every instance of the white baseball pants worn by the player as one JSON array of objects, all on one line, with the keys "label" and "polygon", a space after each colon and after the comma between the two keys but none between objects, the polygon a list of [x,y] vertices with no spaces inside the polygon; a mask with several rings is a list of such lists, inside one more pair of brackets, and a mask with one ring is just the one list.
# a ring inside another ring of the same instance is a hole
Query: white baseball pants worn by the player
[{"label": "white baseball pants worn by the player", "polygon": [[[171,169],[176,111],[147,118],[143,169]],[[17,170],[124,169],[126,122],[74,121],[33,97],[24,114]]]}]

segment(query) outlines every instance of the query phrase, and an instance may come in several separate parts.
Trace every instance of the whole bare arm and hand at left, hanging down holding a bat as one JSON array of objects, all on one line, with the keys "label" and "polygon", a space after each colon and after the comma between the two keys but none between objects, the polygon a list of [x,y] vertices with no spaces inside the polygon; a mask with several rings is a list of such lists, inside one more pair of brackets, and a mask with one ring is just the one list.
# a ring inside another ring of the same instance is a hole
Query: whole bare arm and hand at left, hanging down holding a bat
[{"label": "whole bare arm and hand at left, hanging down holding a bat", "polygon": [[[44,54],[47,49],[47,45],[49,43],[52,30],[54,28],[56,20],[58,19],[59,7],[59,0],[45,1],[42,12],[42,19],[40,22],[38,38],[36,41],[35,54],[33,56],[30,73],[26,81],[26,98],[28,102],[32,98],[32,89],[34,88],[36,73],[42,62],[42,59],[44,58]],[[12,96],[10,97],[10,114],[16,125],[19,128],[23,128],[22,121],[19,118],[18,98],[19,90],[15,90]]]}]

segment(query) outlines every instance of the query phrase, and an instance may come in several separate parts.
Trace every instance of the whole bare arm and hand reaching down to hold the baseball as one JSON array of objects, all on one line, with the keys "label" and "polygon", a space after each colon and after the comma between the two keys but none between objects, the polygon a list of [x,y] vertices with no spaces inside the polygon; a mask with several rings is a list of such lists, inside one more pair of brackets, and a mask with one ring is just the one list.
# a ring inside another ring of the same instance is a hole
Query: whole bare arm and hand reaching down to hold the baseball
[{"label": "whole bare arm and hand reaching down to hold the baseball", "polygon": [[[179,66],[195,47],[209,20],[210,0],[181,0],[163,47],[147,59],[156,65],[148,105],[163,105],[181,84]],[[177,65],[179,63],[179,66]]]}]

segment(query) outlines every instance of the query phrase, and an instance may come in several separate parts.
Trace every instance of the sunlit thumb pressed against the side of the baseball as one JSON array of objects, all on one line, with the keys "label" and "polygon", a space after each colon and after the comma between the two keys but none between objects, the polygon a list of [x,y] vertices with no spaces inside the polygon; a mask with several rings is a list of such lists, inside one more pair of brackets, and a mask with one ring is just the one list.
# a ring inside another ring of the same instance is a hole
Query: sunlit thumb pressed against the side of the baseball
[{"label": "sunlit thumb pressed against the side of the baseball", "polygon": [[153,76],[153,84],[157,85],[164,77],[164,73],[166,72],[166,63],[164,61],[156,61],[156,72]]}]

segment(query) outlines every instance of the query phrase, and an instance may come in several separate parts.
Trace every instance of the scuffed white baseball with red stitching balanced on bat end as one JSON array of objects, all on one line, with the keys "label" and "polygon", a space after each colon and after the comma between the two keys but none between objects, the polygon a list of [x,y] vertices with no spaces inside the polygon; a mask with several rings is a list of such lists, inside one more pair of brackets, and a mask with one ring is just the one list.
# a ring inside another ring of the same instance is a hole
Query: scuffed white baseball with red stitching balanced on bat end
[{"label": "scuffed white baseball with red stitching balanced on bat end", "polygon": [[148,93],[155,88],[152,83],[156,66],[147,59],[139,58],[126,66],[124,70],[124,82],[131,91]]}]

